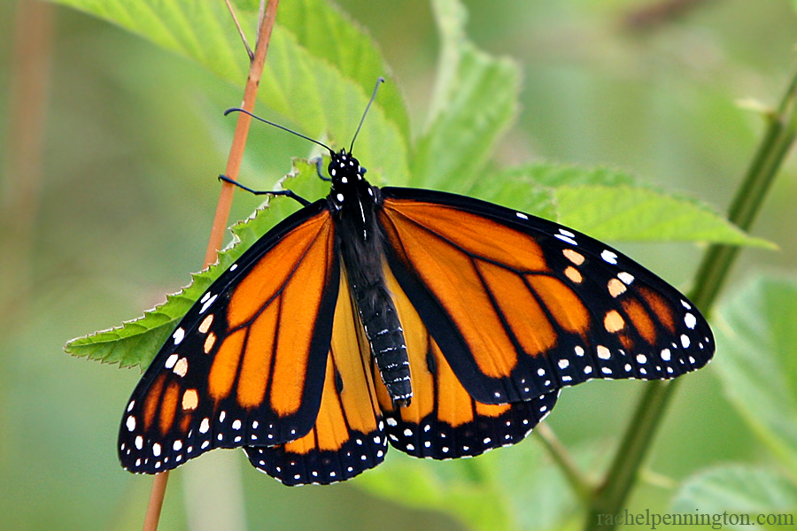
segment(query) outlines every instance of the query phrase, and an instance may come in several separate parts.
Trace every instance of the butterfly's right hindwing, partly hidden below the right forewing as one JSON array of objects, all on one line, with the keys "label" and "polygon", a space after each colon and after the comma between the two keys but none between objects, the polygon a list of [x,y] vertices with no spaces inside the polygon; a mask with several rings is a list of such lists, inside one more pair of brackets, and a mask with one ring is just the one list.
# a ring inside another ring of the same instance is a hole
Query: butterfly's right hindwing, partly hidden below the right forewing
[{"label": "butterfly's right hindwing, partly hidden below the right forewing", "polygon": [[418,312],[386,268],[385,277],[406,337],[412,402],[391,404],[377,384],[391,444],[419,458],[462,458],[520,442],[553,409],[559,391],[513,404],[484,404],[462,387]]}]

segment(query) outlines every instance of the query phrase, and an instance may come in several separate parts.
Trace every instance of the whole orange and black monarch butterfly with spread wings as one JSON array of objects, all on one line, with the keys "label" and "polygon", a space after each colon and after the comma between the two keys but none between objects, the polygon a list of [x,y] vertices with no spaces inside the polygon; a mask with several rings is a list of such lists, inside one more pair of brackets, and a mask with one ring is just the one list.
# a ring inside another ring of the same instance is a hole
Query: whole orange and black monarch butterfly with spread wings
[{"label": "whole orange and black monarch butterfly with spread wings", "polygon": [[711,358],[700,312],[619,251],[470,197],[379,189],[324,147],[329,196],[295,197],[304,207],[213,282],[144,373],[121,421],[125,469],[243,447],[287,485],[328,484],[388,442],[476,456],[521,441],[563,387]]}]

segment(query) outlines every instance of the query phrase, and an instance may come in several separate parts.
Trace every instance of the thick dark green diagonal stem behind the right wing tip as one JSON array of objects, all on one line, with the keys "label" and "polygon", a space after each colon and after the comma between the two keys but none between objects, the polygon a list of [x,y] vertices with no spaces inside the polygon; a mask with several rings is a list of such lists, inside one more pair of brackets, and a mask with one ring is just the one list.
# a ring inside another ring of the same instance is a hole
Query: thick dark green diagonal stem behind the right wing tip
[{"label": "thick dark green diagonal stem behind the right wing tip", "polygon": [[[769,119],[767,131],[728,212],[728,218],[744,230],[752,226],[761,210],[764,198],[797,135],[797,75],[789,84],[778,110]],[[695,288],[690,296],[703,314],[711,310],[738,254],[738,247],[715,244],[708,248],[696,273]],[[677,386],[678,381],[654,381],[648,384],[615,460],[592,500],[586,529],[608,531],[615,527],[598,526],[598,515],[621,512]]]}]

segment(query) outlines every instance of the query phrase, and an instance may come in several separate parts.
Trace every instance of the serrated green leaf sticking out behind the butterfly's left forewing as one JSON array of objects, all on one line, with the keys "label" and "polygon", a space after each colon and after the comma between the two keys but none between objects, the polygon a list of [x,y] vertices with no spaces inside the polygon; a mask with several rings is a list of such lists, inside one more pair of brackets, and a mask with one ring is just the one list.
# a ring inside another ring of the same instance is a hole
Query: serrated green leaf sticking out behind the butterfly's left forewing
[{"label": "serrated green leaf sticking out behind the butterfly's left forewing", "polygon": [[[294,161],[294,172],[283,179],[285,188],[294,189],[299,195],[319,196],[325,183],[318,179],[315,165],[306,160]],[[269,203],[273,203],[269,206]],[[219,253],[217,262],[200,273],[191,275],[191,283],[179,293],[166,297],[166,303],[159,304],[143,316],[127,321],[121,327],[104,330],[92,335],[79,337],[66,343],[66,352],[74,356],[96,359],[104,363],[118,363],[122,367],[149,366],[152,358],[160,350],[166,338],[174,331],[183,315],[205,293],[205,290],[221,273],[265,235],[271,227],[296,211],[298,204],[287,197],[267,200],[251,218],[232,227],[233,242]]]}]

